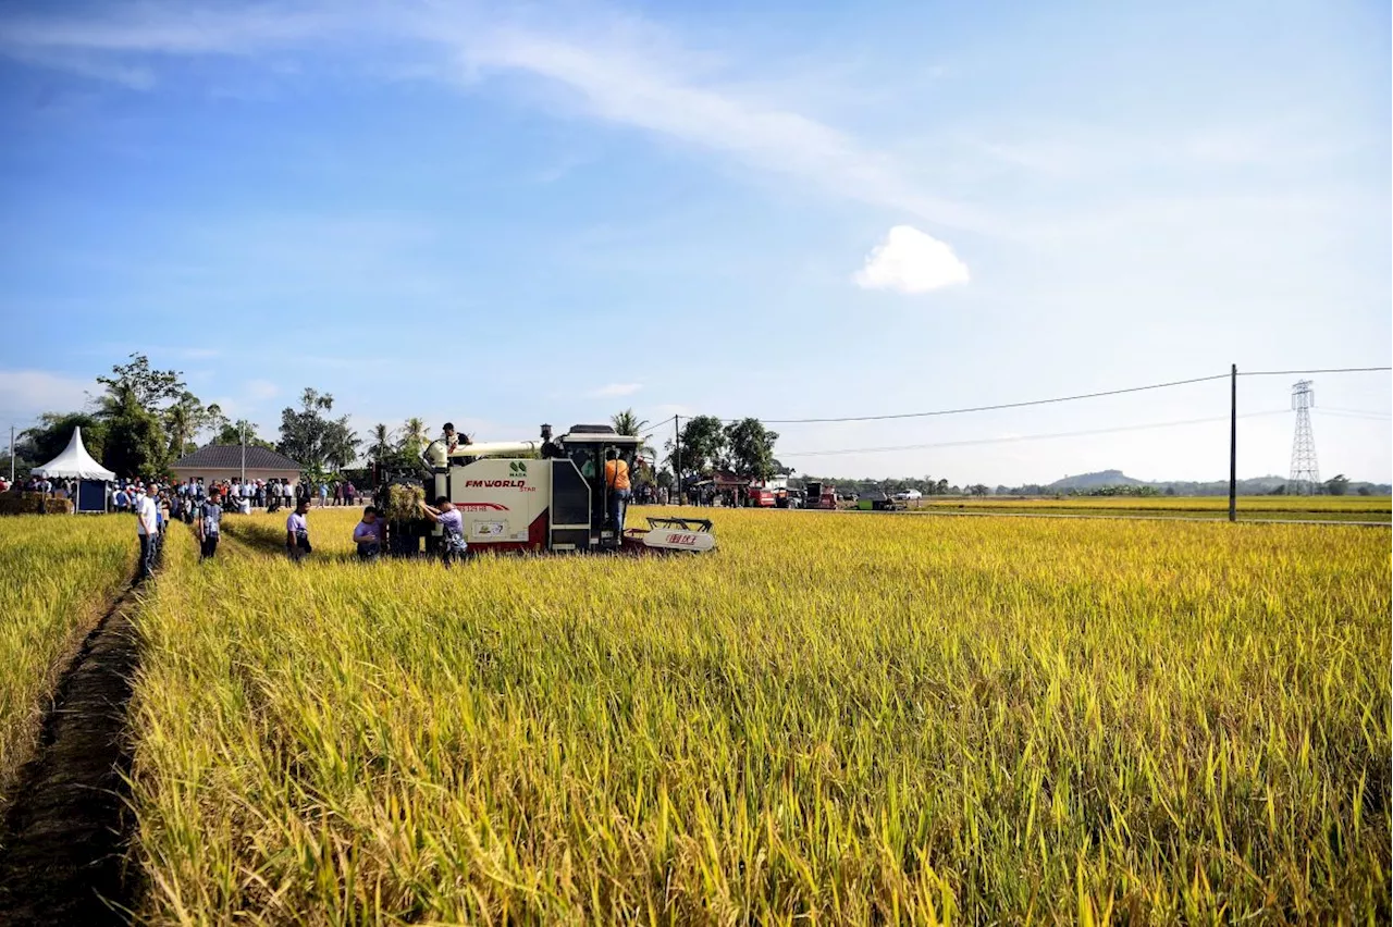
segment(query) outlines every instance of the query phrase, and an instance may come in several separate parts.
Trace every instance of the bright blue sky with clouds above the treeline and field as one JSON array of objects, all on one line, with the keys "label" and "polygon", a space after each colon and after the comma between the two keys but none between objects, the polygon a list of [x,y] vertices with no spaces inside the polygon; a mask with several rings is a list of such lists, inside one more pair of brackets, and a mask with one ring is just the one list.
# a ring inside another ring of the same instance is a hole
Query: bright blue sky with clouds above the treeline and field
[{"label": "bright blue sky with clouds above the treeline and field", "polygon": [[[131,351],[263,433],[313,386],[482,438],[1387,365],[1390,117],[1378,0],[7,4],[0,416]],[[1294,379],[1243,381],[1243,475]],[[1393,479],[1393,376],[1314,379],[1322,470]],[[1226,413],[777,429],[814,473],[1217,479]]]}]

